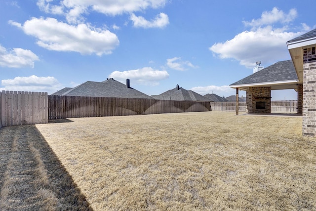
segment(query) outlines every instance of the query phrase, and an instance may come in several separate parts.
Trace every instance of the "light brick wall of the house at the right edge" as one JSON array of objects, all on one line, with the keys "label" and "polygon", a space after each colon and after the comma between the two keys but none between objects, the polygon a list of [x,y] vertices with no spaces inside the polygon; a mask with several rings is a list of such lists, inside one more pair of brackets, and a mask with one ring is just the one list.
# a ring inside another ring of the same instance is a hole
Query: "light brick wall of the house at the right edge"
[{"label": "light brick wall of the house at the right edge", "polygon": [[303,135],[316,135],[316,62],[304,64]]}]

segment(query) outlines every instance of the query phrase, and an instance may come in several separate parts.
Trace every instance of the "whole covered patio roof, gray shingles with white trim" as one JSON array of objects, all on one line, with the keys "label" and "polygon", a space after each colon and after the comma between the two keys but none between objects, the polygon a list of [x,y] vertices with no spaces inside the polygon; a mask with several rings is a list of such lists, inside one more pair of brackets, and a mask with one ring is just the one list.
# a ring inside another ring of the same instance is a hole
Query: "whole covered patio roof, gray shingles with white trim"
[{"label": "whole covered patio roof, gray shingles with white trim", "polygon": [[230,87],[246,90],[250,86],[271,86],[271,89],[296,88],[298,78],[292,60],[276,62],[246,78],[243,78]]}]

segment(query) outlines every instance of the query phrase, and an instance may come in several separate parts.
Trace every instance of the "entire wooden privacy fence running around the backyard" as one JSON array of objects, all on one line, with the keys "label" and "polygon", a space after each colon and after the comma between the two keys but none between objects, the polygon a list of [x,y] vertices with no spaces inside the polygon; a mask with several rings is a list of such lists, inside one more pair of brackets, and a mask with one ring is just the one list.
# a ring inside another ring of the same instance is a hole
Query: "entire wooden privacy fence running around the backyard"
[{"label": "entire wooden privacy fence running around the backyard", "polygon": [[[127,116],[196,111],[235,111],[236,102],[193,102],[113,97],[47,95],[47,92],[0,92],[0,127],[48,123],[48,119]],[[246,103],[239,103],[246,111]],[[297,101],[271,101],[271,112],[297,112]]]}]

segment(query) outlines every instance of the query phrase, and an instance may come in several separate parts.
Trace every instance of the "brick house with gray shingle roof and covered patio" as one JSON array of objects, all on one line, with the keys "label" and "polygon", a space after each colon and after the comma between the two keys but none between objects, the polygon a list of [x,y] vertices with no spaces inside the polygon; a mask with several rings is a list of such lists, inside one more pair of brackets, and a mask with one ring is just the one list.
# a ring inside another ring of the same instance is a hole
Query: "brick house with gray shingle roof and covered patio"
[{"label": "brick house with gray shingle roof and covered patio", "polygon": [[[271,71],[265,72],[264,68],[230,87],[236,88],[237,97],[239,88],[246,90],[248,113],[270,113],[271,90],[294,88],[298,93],[298,113],[303,116],[302,133],[316,136],[316,29],[286,44],[292,60],[277,62],[270,66]],[[296,76],[292,75],[293,67]],[[269,77],[276,80],[266,80]]]}]

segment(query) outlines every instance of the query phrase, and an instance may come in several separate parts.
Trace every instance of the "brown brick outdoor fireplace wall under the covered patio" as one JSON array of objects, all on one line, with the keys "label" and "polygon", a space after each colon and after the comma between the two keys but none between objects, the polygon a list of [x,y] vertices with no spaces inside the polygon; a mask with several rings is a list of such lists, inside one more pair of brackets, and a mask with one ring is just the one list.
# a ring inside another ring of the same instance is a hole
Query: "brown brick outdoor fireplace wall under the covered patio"
[{"label": "brown brick outdoor fireplace wall under the covered patio", "polygon": [[[271,113],[271,87],[249,87],[246,92],[246,112],[249,114]],[[264,104],[264,108],[257,108],[257,102]]]}]

